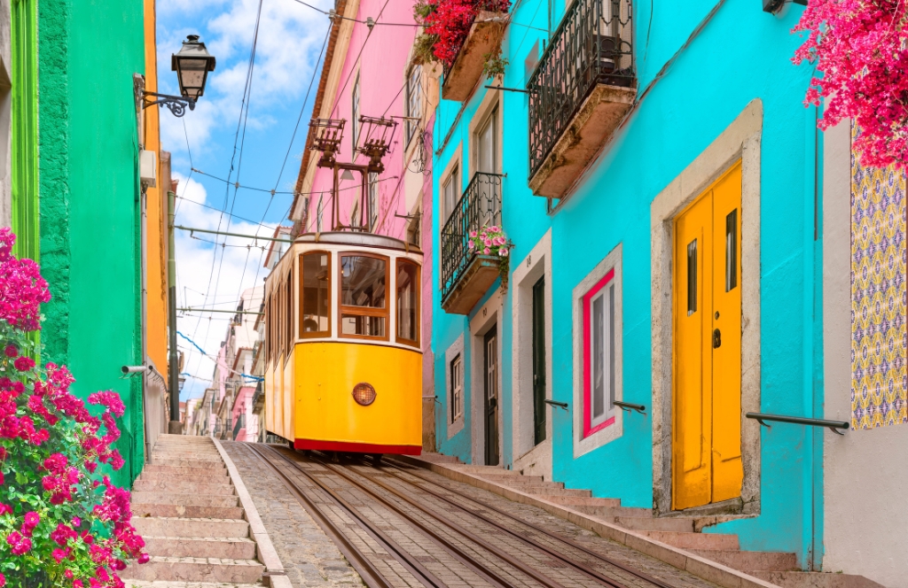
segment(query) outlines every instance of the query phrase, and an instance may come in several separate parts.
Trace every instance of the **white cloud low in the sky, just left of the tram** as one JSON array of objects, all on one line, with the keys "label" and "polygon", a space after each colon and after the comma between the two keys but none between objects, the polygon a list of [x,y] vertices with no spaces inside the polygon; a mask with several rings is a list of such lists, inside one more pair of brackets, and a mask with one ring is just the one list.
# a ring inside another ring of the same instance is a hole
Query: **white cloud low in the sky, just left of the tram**
[{"label": "white cloud low in the sky, just left of the tram", "polygon": [[[202,204],[217,208],[209,200],[201,183],[186,181],[181,174],[174,174],[180,181],[176,224],[194,229],[229,230],[244,235],[271,237],[274,225],[257,225],[244,220],[232,220],[227,226],[227,215],[218,210],[205,208]],[[217,197],[215,197],[215,200]],[[220,229],[219,229],[220,227]],[[214,245],[210,241],[217,241]],[[221,247],[224,243],[226,247]],[[244,289],[261,286],[266,271],[262,248],[268,241],[253,241],[240,237],[227,237],[207,233],[195,233],[194,237],[185,230],[177,230],[175,254],[177,262],[177,305],[179,308],[235,309],[237,300]],[[218,270],[220,268],[220,277]],[[213,270],[212,270],[213,269]],[[206,296],[205,292],[208,293]],[[216,356],[221,342],[226,338],[231,315],[224,313],[182,313],[177,319],[177,328],[192,338],[209,355]],[[183,371],[192,376],[210,378],[214,362],[205,358],[183,338],[178,345],[186,354]],[[183,388],[184,397],[200,397],[206,383],[198,379],[187,379]]]}]

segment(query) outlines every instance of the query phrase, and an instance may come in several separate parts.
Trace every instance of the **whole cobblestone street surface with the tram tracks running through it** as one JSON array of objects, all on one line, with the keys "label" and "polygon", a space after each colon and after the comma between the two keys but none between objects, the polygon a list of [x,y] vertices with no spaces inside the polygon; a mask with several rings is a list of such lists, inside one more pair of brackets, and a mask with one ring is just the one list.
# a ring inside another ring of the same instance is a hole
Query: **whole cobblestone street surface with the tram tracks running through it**
[{"label": "whole cobblestone street surface with the tram tracks running through it", "polygon": [[[225,442],[223,446],[231,456],[252,495],[252,500],[293,586],[362,585],[359,574],[353,570],[331,538],[322,532],[321,527],[312,520],[296,497],[291,495],[284,482],[269,468],[263,466],[261,459],[252,452],[252,447],[232,442]],[[387,499],[390,503],[381,505],[379,502],[371,501],[362,489],[356,489],[349,484],[349,481],[345,482],[341,475],[332,473],[329,468],[311,462],[301,455],[293,455],[290,452],[282,453],[284,456],[290,456],[310,475],[317,476],[322,483],[330,483],[329,487],[333,492],[337,492],[361,514],[376,522],[377,528],[387,534],[394,544],[400,545],[404,551],[411,554],[415,562],[423,565],[429,571],[430,577],[437,578],[444,585],[485,586],[490,583],[494,585],[495,582],[494,578],[489,582],[489,577],[484,577],[481,571],[477,573],[476,569],[465,568],[462,558],[452,556],[449,550],[431,540],[425,531],[418,530],[408,524],[400,514],[392,512],[389,507],[391,503],[400,508],[401,512],[406,512],[419,523],[426,525],[424,528],[433,529],[462,553],[469,554],[469,558],[487,567],[493,575],[505,580],[507,585],[545,585],[549,580],[555,585],[569,588],[602,585],[601,581],[578,574],[577,569],[564,563],[567,560],[559,560],[558,557],[561,554],[573,558],[589,569],[595,570],[596,573],[614,578],[615,581],[628,588],[653,584],[633,573],[619,570],[611,564],[596,561],[595,554],[602,554],[614,562],[649,574],[657,581],[673,588],[709,588],[715,585],[625,545],[599,537],[597,534],[561,518],[549,515],[538,507],[521,505],[441,475],[421,469],[392,472],[395,468],[391,466],[387,466],[387,473],[379,474],[371,466],[350,464],[342,466],[342,471],[346,475],[355,476],[358,481],[367,484],[371,490],[381,492],[383,497],[388,495]],[[288,475],[293,483],[299,485],[318,508],[331,513],[332,518],[341,521],[343,533],[350,537],[351,542],[356,544],[358,549],[370,554],[370,558],[374,559],[382,575],[390,579],[391,585],[421,585],[410,576],[406,565],[401,566],[399,561],[383,551],[384,548],[380,544],[376,544],[373,537],[364,534],[349,515],[343,513],[337,505],[333,505],[324,492],[312,484],[314,479],[307,482],[305,475],[302,475],[302,470],[295,470],[289,462],[281,464],[280,459],[271,460],[271,458],[269,461],[273,465],[279,466],[281,472]],[[411,483],[425,484],[426,481],[437,484],[435,488],[447,491],[445,494],[449,497],[456,497],[457,504],[445,503],[438,496],[420,495],[418,491],[414,492],[417,490],[417,486],[411,485]],[[391,490],[400,495],[390,495]],[[420,505],[439,515],[438,521],[433,520],[434,516],[429,513],[419,512],[413,508],[412,504],[408,505],[406,497],[416,498]],[[488,505],[489,509],[496,509],[498,512],[484,508],[476,510],[476,503],[471,503],[471,500],[479,501]],[[474,519],[460,510],[460,507],[468,509],[468,512],[486,516],[488,521]],[[576,548],[566,547],[558,540],[545,536],[539,531],[521,530],[519,529],[520,524],[515,524],[513,519],[509,520],[508,515],[516,516],[528,524],[536,525],[539,529],[581,544],[595,554],[577,557]],[[450,531],[445,524],[440,524],[440,521],[451,521],[460,525],[461,528],[468,530],[473,538],[468,540]],[[519,534],[522,536],[531,538],[532,541],[544,545],[551,551],[549,554],[538,551],[538,548],[522,542],[517,535],[502,533],[492,526],[493,521],[496,524],[519,530]],[[477,544],[477,539],[484,542],[485,547]],[[499,556],[489,554],[489,548],[499,549],[501,554],[514,558],[514,561],[528,564],[531,570],[544,574],[543,582],[527,577],[525,572],[514,568],[513,561],[508,564]]]}]

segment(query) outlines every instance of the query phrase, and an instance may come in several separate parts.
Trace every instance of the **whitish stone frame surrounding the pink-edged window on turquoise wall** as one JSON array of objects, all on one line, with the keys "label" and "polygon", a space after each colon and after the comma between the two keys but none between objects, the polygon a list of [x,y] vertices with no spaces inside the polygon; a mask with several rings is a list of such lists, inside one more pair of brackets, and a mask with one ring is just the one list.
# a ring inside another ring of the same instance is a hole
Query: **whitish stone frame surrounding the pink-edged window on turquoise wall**
[{"label": "whitish stone frame surrounding the pink-edged window on turquoise wall", "polygon": [[[624,397],[623,377],[622,377],[622,246],[618,244],[614,250],[611,250],[604,260],[597,263],[596,267],[591,270],[587,276],[582,279],[573,290],[573,325],[574,325],[574,457],[583,456],[601,446],[606,445],[619,438],[624,433],[624,412],[617,407],[607,407],[606,415],[596,421],[592,419],[592,407],[590,407],[590,429],[591,432],[585,436],[585,348],[584,348],[584,298],[587,293],[594,289],[599,282],[604,279],[609,271],[614,270],[614,277],[600,290],[607,294],[609,287],[614,288],[615,307],[614,307],[614,329],[615,329],[615,400],[621,400]],[[590,299],[592,304],[594,299]],[[592,319],[592,318],[591,318]],[[592,344],[592,340],[590,341]],[[592,383],[591,383],[592,384]],[[592,398],[592,391],[590,397]],[[608,426],[603,426],[595,430],[597,426],[607,422],[614,417],[615,421]]]}]

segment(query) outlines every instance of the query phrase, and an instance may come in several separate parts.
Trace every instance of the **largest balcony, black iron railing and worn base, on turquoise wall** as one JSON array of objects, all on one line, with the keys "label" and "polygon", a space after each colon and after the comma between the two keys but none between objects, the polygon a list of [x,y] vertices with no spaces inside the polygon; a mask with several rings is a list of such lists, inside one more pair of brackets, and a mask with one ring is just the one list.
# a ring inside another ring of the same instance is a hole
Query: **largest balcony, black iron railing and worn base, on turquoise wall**
[{"label": "largest balcony, black iron railing and worn base, on turquoise wall", "polygon": [[637,97],[632,0],[575,0],[527,84],[529,187],[561,198]]}]

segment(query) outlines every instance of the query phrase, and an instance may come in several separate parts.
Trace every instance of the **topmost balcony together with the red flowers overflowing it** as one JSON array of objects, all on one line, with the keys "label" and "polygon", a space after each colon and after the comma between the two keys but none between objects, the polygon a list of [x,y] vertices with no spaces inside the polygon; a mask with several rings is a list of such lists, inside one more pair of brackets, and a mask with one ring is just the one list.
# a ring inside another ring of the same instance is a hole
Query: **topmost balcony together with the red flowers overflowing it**
[{"label": "topmost balcony together with the red flowers overflowing it", "polygon": [[413,15],[425,29],[415,41],[413,63],[442,64],[446,99],[465,100],[481,75],[504,73],[501,40],[509,7],[510,0],[417,0]]}]

